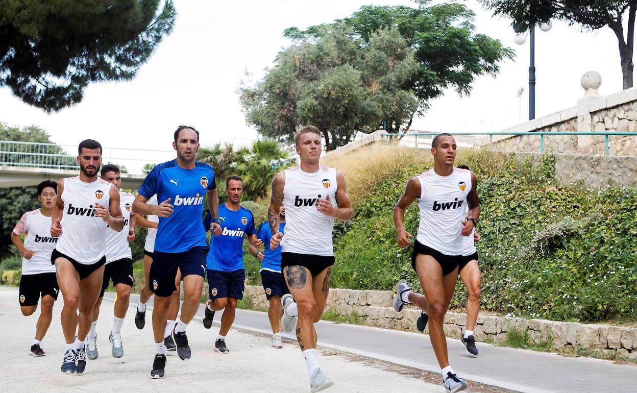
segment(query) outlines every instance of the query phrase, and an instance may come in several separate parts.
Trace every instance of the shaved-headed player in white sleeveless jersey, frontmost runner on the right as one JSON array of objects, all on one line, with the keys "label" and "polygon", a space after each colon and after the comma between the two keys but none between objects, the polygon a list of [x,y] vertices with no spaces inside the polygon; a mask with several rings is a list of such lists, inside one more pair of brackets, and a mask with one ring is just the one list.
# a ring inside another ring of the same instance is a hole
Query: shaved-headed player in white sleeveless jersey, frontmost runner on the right
[{"label": "shaved-headed player in white sleeveless jersey, frontmost runner on the right", "polygon": [[[399,281],[394,308],[401,311],[404,304],[415,303],[429,311],[429,338],[440,364],[443,385],[450,392],[466,389],[467,383],[449,365],[443,323],[462,262],[464,238],[471,235],[480,217],[476,177],[471,171],[454,168],[456,148],[453,136],[437,135],[431,143],[434,168],[410,179],[394,208],[398,245],[404,248],[412,238],[404,229],[404,210],[419,200],[420,225],[413,245],[412,267],[424,290],[424,296],[415,294],[406,282]],[[468,204],[468,217],[464,215],[464,204]]]}]

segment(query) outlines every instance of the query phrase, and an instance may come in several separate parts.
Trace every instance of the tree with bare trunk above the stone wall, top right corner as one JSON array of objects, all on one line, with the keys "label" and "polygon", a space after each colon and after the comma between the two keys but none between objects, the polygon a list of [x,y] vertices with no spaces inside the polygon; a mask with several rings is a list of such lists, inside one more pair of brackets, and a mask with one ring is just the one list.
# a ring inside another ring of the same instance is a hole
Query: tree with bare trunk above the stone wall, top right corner
[{"label": "tree with bare trunk above the stone wall, top right corner", "polygon": [[[624,89],[633,87],[633,43],[637,0],[479,0],[494,11],[513,19],[516,31],[526,31],[550,19],[564,20],[583,29],[610,27],[617,36]],[[627,13],[627,15],[626,15]],[[624,36],[624,20],[626,36]]]}]

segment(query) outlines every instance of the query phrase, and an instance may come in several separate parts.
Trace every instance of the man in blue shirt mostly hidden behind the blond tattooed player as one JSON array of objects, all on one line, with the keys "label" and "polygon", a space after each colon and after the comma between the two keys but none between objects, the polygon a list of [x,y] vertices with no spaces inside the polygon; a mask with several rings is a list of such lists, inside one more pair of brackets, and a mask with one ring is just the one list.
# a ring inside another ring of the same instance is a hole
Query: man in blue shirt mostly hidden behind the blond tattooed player
[{"label": "man in blue shirt mostly hidden behind the blond tattooed player", "polygon": [[[283,228],[285,227],[285,208],[283,208],[283,205],[281,205],[279,212],[281,214],[279,232],[283,233]],[[261,239],[266,245],[270,243],[272,232],[267,221],[257,229],[257,238]],[[272,347],[283,348],[280,333],[283,330],[281,327],[281,318],[283,317],[281,297],[286,294],[290,296],[290,290],[287,289],[285,278],[281,273],[281,246],[276,247],[275,250],[266,247],[265,250],[259,251],[256,247],[250,245],[250,254],[261,261],[261,282],[263,289],[266,291],[266,298],[269,301],[268,318],[272,327]]]}]

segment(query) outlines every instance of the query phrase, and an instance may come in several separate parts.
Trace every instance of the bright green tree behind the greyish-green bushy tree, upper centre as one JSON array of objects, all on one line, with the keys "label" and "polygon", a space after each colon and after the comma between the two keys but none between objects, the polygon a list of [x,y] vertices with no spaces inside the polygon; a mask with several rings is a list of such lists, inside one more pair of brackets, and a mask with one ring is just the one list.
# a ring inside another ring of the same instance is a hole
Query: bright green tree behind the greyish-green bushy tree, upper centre
[{"label": "bright green tree behind the greyish-green bushy tree, upper centre", "polygon": [[[344,23],[366,43],[384,29],[395,27],[413,50],[419,63],[417,71],[401,85],[417,99],[410,116],[383,114],[389,132],[409,129],[414,115],[424,115],[429,101],[453,88],[457,94],[468,95],[476,76],[495,76],[499,64],[513,59],[510,48],[485,34],[475,33],[475,13],[457,3],[429,6],[429,0],[417,0],[418,8],[408,6],[362,6],[350,17],[335,23]],[[334,24],[327,25],[333,26]],[[291,39],[320,37],[326,25],[312,26],[305,31],[291,27],[285,36]],[[383,103],[384,104],[384,103]],[[399,111],[401,113],[401,111]]]}]

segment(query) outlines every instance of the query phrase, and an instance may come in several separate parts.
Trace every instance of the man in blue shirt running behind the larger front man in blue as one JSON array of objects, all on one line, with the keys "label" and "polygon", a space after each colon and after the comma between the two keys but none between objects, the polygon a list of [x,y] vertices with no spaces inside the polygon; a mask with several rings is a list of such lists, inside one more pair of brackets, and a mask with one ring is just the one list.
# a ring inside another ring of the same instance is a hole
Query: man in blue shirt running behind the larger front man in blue
[{"label": "man in blue shirt running behind the larger front man in blue", "polygon": [[[254,229],[252,211],[241,206],[243,183],[239,176],[230,176],[225,180],[225,193],[228,201],[219,206],[219,218],[222,232],[215,233],[210,239],[208,253],[208,293],[203,325],[210,329],[215,311],[224,310],[221,316],[221,328],[215,341],[215,351],[221,354],[230,352],[225,345],[234,322],[234,311],[237,300],[243,299],[245,289],[245,267],[243,266],[243,236],[248,235],[250,245],[261,247],[261,239],[257,239]],[[206,217],[207,218],[207,217]],[[204,227],[206,223],[204,222]]]}]

